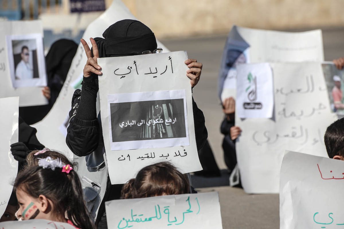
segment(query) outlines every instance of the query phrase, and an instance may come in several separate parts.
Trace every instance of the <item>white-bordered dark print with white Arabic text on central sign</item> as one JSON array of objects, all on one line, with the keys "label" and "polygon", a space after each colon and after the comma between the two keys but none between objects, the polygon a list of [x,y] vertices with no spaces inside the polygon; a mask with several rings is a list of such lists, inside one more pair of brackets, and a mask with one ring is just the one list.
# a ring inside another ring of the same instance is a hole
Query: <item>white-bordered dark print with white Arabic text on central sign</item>
[{"label": "white-bordered dark print with white Arabic text on central sign", "polygon": [[150,95],[147,99],[151,100],[109,103],[112,145],[121,149],[138,149],[142,142],[150,142],[155,147],[185,145],[188,137],[185,98],[152,100],[163,98],[161,93],[164,92],[128,93],[134,95],[132,99],[142,100]]}]

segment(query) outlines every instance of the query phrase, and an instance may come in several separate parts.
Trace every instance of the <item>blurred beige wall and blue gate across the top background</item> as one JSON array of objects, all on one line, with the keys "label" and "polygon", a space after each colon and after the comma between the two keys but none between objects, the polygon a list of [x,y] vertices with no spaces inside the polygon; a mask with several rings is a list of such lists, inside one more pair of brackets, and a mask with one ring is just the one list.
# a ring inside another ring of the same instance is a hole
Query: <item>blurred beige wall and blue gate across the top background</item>
[{"label": "blurred beige wall and blue gate across the top background", "polygon": [[[227,34],[233,24],[273,30],[344,25],[343,0],[122,1],[159,39]],[[112,0],[104,2],[108,8]],[[45,46],[62,37],[79,42],[87,25],[102,13],[70,9],[71,0],[0,0],[0,17],[43,21]]]}]

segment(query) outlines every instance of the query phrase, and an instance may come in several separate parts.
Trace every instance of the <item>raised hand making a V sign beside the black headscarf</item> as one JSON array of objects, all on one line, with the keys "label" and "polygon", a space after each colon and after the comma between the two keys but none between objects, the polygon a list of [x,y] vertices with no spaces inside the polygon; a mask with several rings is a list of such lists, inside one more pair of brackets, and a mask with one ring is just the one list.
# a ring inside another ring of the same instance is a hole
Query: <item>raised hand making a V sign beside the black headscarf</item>
[{"label": "raised hand making a V sign beside the black headscarf", "polygon": [[101,69],[101,67],[97,64],[97,58],[99,58],[99,52],[98,52],[98,47],[97,47],[96,41],[92,37],[89,38],[89,40],[91,41],[92,48],[93,48],[93,57],[92,57],[92,52],[89,49],[86,41],[84,39],[80,39],[81,43],[84,46],[85,53],[87,56],[87,62],[86,62],[86,65],[84,67],[84,77],[91,76],[92,72],[97,74],[97,75],[102,74],[101,71],[99,71],[99,69]]}]

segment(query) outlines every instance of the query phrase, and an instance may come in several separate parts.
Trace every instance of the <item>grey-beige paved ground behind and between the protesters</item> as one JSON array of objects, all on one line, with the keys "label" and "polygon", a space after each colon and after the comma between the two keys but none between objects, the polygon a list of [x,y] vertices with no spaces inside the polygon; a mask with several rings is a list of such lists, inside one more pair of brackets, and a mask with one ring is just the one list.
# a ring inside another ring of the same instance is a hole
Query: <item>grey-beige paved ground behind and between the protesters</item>
[{"label": "grey-beige paved ground behind and between the protesters", "polygon": [[[323,29],[325,60],[344,57],[343,37],[344,27]],[[217,77],[225,41],[226,35],[161,40],[171,51],[186,50],[189,58],[203,63],[201,81],[194,88],[193,96],[204,113],[208,140],[220,169],[225,169],[226,166],[221,148],[223,136],[219,131],[224,115],[217,97]],[[222,178],[227,179],[226,176]],[[279,228],[278,194],[248,195],[241,188],[219,186],[226,185],[223,179],[200,179],[206,188],[197,188],[197,191],[219,192],[223,228]],[[209,183],[214,187],[208,187],[206,184]]]}]

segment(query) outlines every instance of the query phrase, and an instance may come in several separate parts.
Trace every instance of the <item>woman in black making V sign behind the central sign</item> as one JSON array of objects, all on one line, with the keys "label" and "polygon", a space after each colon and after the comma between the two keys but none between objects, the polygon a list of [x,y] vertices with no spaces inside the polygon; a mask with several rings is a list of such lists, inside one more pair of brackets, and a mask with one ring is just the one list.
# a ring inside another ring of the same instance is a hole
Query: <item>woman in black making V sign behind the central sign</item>
[{"label": "woman in black making V sign behind the central sign", "polygon": [[[154,50],[157,49],[153,32],[136,20],[116,22],[107,28],[103,37],[90,38],[92,50],[89,49],[84,39],[81,39],[88,59],[83,72],[82,91],[76,90],[73,95],[72,110],[69,113],[70,124],[66,137],[69,149],[79,157],[93,153],[99,146],[103,146],[104,149],[100,115],[97,118],[96,114],[97,75],[101,74],[97,58],[141,55],[142,53],[154,53]],[[190,78],[191,87],[194,87],[200,79],[202,64],[194,59],[186,60],[185,64],[189,67],[186,76]],[[192,103],[197,150],[200,150],[204,146],[208,134],[203,112],[197,107],[194,100]],[[103,216],[104,203],[112,199],[119,199],[121,187],[122,185],[111,185],[108,178],[106,193],[96,219],[96,225],[100,221],[98,228],[107,228],[106,216]]]}]

